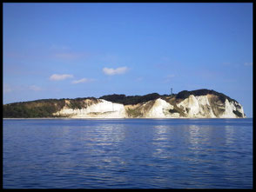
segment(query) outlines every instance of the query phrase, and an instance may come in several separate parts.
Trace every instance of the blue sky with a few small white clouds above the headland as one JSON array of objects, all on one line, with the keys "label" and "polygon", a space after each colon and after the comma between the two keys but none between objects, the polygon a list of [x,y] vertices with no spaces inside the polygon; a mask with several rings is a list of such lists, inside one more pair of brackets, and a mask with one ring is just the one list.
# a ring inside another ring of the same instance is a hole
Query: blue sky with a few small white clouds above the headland
[{"label": "blue sky with a few small white clouds above the headland", "polygon": [[253,3],[3,3],[3,103],[171,88],[253,116]]}]

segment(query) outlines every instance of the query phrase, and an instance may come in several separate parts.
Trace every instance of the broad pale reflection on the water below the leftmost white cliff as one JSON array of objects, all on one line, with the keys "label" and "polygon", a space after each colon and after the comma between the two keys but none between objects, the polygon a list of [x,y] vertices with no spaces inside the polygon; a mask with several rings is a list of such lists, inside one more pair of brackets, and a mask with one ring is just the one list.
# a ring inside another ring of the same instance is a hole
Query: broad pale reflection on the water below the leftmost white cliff
[{"label": "broad pale reflection on the water below the leftmost white cliff", "polygon": [[[94,158],[90,164],[96,164],[94,172],[97,172],[98,177],[106,179],[104,182],[111,181],[117,177],[116,174],[125,173],[127,162],[125,156],[122,156],[122,148],[125,142],[125,125],[117,124],[102,124],[94,128],[86,135],[86,138],[91,139],[91,145],[88,149],[90,156]],[[86,142],[88,144],[88,142]],[[85,159],[84,163],[88,163]],[[119,182],[127,182],[125,176],[118,177]]]}]

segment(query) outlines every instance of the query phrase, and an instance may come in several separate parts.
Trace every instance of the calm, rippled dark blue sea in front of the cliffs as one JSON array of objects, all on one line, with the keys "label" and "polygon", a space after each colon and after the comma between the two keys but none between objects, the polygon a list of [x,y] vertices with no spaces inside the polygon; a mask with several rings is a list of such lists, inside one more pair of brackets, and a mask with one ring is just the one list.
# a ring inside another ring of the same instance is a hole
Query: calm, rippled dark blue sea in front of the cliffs
[{"label": "calm, rippled dark blue sea in front of the cliffs", "polygon": [[3,120],[4,189],[250,189],[252,119]]}]

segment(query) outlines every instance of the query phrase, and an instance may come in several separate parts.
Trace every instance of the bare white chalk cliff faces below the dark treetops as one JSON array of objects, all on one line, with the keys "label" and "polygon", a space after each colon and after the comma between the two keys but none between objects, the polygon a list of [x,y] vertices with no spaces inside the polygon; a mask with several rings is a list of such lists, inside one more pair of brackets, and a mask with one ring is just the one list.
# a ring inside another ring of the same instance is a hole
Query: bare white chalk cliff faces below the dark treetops
[{"label": "bare white chalk cliff faces below the dark treetops", "polygon": [[71,109],[64,106],[54,116],[71,118],[237,118],[246,117],[243,107],[236,102],[225,100],[222,103],[218,96],[189,96],[181,101],[166,97],[146,103],[124,105],[98,99],[96,103],[82,109]]}]

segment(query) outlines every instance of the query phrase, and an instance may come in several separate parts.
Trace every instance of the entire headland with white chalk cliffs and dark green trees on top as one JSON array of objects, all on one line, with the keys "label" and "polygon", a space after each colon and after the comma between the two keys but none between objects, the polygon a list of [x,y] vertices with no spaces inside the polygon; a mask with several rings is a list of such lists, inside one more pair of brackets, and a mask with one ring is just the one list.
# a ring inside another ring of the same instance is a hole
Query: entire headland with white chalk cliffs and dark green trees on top
[{"label": "entire headland with white chalk cliffs and dark green trees on top", "polygon": [[100,98],[46,99],[3,105],[3,117],[70,118],[244,118],[234,99],[209,89],[177,95],[109,95]]}]

